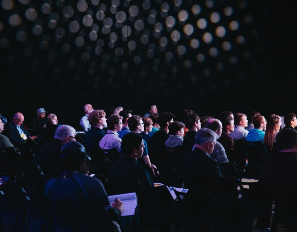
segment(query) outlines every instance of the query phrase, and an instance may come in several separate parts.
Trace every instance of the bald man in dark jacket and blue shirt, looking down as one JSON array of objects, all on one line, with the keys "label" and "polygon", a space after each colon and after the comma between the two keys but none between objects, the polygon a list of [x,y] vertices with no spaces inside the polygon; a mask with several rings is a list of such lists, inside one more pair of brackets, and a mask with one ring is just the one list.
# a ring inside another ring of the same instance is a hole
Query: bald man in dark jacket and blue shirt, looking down
[{"label": "bald man in dark jacket and blue shirt, looking down", "polygon": [[37,137],[30,136],[29,132],[24,128],[24,120],[24,115],[18,112],[13,115],[12,122],[7,123],[5,126],[5,135],[17,148],[24,147],[28,140],[34,140]]}]

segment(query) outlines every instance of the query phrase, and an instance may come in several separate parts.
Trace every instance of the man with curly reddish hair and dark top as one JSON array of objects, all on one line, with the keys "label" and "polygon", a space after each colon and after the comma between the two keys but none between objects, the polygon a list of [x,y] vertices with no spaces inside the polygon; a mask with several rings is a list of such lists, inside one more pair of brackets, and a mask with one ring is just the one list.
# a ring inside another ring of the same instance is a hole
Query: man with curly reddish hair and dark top
[{"label": "man with curly reddish hair and dark top", "polygon": [[84,137],[84,145],[88,151],[99,149],[99,142],[105,136],[105,131],[102,129],[107,127],[105,115],[104,110],[94,110],[88,115],[91,129]]}]

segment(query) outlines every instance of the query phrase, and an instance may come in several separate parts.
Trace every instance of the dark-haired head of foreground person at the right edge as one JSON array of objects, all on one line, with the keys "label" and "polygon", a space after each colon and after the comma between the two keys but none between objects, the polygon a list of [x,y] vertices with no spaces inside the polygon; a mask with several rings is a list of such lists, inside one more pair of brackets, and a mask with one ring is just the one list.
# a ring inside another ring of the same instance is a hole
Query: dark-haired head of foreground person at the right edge
[{"label": "dark-haired head of foreground person at the right edge", "polygon": [[278,151],[296,149],[297,131],[295,129],[282,129],[276,135],[276,147]]}]

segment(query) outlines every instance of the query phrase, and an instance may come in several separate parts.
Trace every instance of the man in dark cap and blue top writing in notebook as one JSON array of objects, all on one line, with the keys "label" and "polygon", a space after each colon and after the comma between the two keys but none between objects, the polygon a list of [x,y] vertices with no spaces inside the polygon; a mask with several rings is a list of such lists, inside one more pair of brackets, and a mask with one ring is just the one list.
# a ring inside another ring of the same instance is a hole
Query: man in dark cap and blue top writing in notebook
[{"label": "man in dark cap and blue top writing in notebook", "polygon": [[[119,216],[123,212],[123,203],[118,199],[110,204],[101,181],[87,175],[86,159],[85,148],[82,144],[76,141],[64,144],[60,159],[63,173],[46,183],[45,196],[54,205],[62,202],[76,202],[82,206],[103,206],[111,219],[119,222]],[[71,213],[69,212],[70,215]],[[75,231],[76,225],[69,226],[72,226],[72,230]]]}]

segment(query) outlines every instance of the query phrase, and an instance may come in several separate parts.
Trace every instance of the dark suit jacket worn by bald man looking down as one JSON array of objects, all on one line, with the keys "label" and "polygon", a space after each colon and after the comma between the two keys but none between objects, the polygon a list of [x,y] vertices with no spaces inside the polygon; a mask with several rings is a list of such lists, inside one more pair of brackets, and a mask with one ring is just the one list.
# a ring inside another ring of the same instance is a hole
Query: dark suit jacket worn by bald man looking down
[{"label": "dark suit jacket worn by bald man looking down", "polygon": [[[24,128],[24,125],[21,125],[20,128],[24,131],[25,135],[29,139],[30,134]],[[21,138],[19,131],[16,129],[16,126],[13,122],[5,124],[5,130],[3,131],[3,134],[6,135],[10,139],[11,143],[17,148],[23,147],[26,144],[26,140]]]}]

